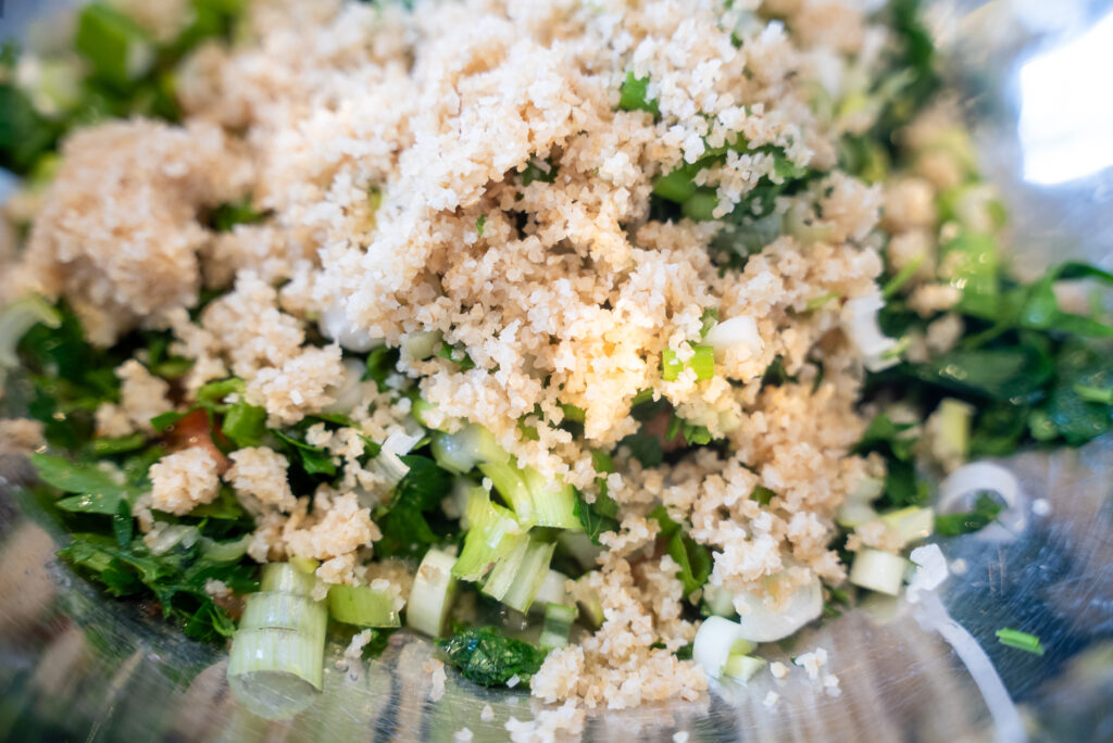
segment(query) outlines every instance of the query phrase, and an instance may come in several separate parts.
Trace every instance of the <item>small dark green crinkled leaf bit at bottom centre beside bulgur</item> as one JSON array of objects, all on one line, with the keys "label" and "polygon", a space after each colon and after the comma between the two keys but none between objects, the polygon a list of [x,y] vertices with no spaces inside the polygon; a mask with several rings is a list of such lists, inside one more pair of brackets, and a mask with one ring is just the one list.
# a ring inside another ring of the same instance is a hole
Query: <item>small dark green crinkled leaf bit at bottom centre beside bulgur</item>
[{"label": "small dark green crinkled leaf bit at bottom centre beside bulgur", "polygon": [[450,665],[481,686],[503,686],[514,676],[528,682],[545,660],[544,651],[495,627],[471,627],[437,645]]}]

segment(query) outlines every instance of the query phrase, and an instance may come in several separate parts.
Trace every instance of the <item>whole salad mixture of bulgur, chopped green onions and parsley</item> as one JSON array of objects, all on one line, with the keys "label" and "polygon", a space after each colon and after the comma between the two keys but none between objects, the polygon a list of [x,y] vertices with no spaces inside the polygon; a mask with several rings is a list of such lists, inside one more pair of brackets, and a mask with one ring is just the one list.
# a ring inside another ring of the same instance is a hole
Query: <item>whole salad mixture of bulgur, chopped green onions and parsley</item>
[{"label": "whole salad mixture of bulgur, chopped green onions and parsley", "polygon": [[976,460],[1113,426],[1113,275],[1012,270],[873,6],[116,0],[7,47],[27,509],[260,714],[405,627],[571,731],[1007,535]]}]

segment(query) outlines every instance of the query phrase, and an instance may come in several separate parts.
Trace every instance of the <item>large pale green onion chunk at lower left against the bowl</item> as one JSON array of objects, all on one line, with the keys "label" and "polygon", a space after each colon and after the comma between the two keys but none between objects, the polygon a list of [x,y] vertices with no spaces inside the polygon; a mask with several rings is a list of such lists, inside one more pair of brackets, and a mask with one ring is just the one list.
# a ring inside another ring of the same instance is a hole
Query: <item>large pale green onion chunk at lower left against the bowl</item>
[{"label": "large pale green onion chunk at lower left against the bowl", "polygon": [[263,590],[247,597],[232,638],[228,685],[260,717],[293,716],[322,688],[328,614],[309,595],[315,582],[288,563],[272,563],[263,567]]}]

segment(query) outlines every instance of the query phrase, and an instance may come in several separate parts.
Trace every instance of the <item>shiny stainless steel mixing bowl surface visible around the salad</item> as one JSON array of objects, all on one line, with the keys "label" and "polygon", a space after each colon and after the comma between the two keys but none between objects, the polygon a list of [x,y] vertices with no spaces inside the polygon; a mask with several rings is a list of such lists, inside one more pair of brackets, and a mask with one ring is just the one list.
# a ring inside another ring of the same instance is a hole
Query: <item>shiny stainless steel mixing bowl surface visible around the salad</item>
[{"label": "shiny stainless steel mixing bowl surface visible around the salad", "polygon": [[[23,32],[49,4],[8,0],[0,37]],[[1113,2],[939,2],[930,10],[983,166],[1009,206],[1016,267],[1036,270],[1065,256],[1113,266],[1113,125],[1101,119],[1113,110],[1101,108],[1113,101],[1113,51],[1101,61],[1113,50]],[[1105,37],[1086,42],[1095,62],[1053,78],[1061,90],[1040,87],[1033,63],[1081,48],[1080,38],[1102,28]],[[940,542],[961,574],[936,595],[863,606],[777,651],[787,661],[826,648],[839,696],[802,674],[785,686],[760,674],[701,703],[598,711],[583,737],[1113,740],[1113,440],[1006,464],[1026,496],[1023,531],[1004,541]],[[19,496],[27,475],[22,463],[0,460],[0,739],[451,741],[466,726],[485,741],[505,740],[509,717],[533,714],[524,693],[451,677],[445,696],[429,702],[422,664],[432,648],[400,633],[361,668],[327,668],[325,693],[296,720],[254,717],[228,692],[223,651],[106,598],[55,559],[59,535],[37,525]],[[1002,626],[1037,633],[1046,654],[1001,645],[994,631]],[[770,691],[780,695],[771,709],[764,704]],[[481,720],[484,704],[493,720]]]}]

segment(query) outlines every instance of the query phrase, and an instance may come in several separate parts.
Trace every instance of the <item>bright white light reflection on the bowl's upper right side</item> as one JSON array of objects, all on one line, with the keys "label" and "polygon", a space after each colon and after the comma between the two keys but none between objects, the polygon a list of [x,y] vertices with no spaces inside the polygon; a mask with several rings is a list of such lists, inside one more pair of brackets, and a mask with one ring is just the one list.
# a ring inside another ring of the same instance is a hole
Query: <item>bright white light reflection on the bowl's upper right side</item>
[{"label": "bright white light reflection on the bowl's upper right side", "polygon": [[1026,180],[1062,184],[1113,166],[1110,70],[1113,13],[1021,67],[1020,137]]}]

